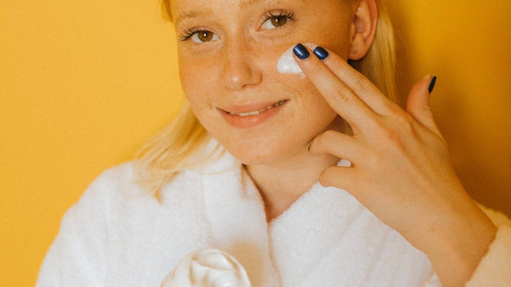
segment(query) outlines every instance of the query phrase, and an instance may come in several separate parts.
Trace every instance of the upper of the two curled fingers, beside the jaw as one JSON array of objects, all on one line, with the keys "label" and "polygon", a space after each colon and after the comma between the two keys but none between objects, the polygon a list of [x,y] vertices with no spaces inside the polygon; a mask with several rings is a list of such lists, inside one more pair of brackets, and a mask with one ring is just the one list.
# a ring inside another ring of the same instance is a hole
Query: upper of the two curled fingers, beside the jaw
[{"label": "upper of the two curled fingers, beside the jaw", "polygon": [[329,130],[312,140],[309,152],[312,155],[331,154],[353,161],[359,154],[359,148],[354,137]]}]

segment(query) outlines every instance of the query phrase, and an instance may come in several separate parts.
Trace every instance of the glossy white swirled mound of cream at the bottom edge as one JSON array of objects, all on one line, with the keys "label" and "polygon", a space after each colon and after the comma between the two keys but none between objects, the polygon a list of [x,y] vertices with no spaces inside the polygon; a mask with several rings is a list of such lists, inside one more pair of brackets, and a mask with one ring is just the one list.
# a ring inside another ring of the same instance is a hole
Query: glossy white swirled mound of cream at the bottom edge
[{"label": "glossy white swirled mound of cream at the bottom edge", "polygon": [[251,287],[248,275],[233,256],[202,249],[184,257],[161,287]]}]

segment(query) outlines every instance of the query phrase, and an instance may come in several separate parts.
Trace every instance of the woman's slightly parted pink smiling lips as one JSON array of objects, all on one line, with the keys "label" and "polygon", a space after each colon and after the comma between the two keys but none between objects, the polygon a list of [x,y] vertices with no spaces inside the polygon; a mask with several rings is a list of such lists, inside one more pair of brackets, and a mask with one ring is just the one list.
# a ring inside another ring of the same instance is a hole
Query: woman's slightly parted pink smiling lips
[{"label": "woman's slightly parted pink smiling lips", "polygon": [[[240,116],[232,113],[247,113],[252,111],[259,111],[269,106],[273,106],[277,103],[284,101],[283,104],[277,107],[272,107],[267,110],[260,112],[255,115]],[[258,126],[275,116],[282,110],[282,108],[289,102],[289,100],[281,100],[276,102],[263,102],[253,103],[248,105],[233,105],[226,107],[225,109],[218,108],[225,121],[230,125],[238,129],[249,129]]]}]

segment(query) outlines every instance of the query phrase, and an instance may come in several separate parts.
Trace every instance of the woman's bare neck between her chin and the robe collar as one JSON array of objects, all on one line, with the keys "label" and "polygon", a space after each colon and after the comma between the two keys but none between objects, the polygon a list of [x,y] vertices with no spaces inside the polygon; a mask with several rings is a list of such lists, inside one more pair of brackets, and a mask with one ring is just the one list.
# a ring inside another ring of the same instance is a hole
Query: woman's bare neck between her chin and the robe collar
[{"label": "woman's bare neck between her chin and the robe collar", "polygon": [[312,156],[307,148],[285,160],[246,166],[263,198],[268,222],[286,211],[317,182],[322,171],[339,160],[332,155]]}]

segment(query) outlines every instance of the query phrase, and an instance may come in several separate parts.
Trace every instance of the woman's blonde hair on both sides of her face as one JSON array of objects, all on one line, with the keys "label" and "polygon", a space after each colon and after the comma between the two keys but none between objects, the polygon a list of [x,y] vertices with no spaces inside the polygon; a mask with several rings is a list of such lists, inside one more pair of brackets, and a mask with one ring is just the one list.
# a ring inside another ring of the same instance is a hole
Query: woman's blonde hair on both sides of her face
[{"label": "woman's blonde hair on both sides of her face", "polygon": [[[350,64],[371,80],[393,102],[398,102],[395,83],[396,52],[394,34],[384,0],[377,0],[378,24],[376,37],[367,55]],[[172,20],[170,0],[162,0],[164,18]],[[163,184],[180,171],[213,160],[216,149],[205,152],[212,137],[199,123],[190,104],[185,101],[180,113],[135,155],[138,183],[148,192],[157,194]]]}]

